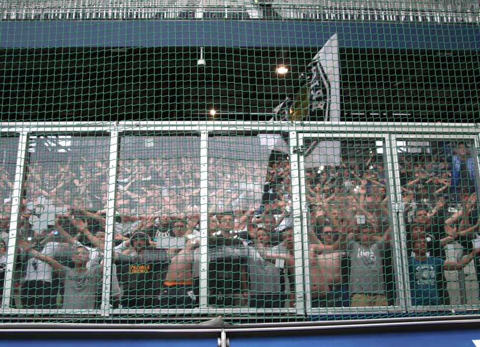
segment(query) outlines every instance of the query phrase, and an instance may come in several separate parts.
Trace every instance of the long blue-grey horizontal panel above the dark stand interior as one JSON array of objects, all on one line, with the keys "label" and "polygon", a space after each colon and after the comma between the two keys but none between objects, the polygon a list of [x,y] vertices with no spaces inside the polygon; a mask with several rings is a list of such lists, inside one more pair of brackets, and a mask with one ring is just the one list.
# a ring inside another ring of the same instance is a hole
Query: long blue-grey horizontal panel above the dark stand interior
[{"label": "long blue-grey horizontal panel above the dark stand interior", "polygon": [[340,47],[480,49],[473,25],[265,20],[3,21],[0,48],[320,47],[335,32]]}]

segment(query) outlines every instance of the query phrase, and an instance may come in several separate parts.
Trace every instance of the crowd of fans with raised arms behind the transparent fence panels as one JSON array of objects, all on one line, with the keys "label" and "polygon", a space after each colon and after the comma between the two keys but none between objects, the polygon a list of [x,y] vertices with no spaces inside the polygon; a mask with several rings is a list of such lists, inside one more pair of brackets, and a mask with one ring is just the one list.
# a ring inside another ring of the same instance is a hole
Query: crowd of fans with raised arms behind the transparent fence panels
[{"label": "crowd of fans with raised arms behind the transparent fence panels", "polygon": [[[394,264],[400,260],[390,245],[393,187],[383,155],[375,146],[343,143],[340,157],[337,165],[313,163],[305,171],[312,307],[393,305]],[[105,243],[108,163],[64,163],[51,172],[30,165],[17,232],[17,305],[99,309],[103,272],[111,259],[115,266],[107,290],[114,308],[194,308],[201,292],[218,307],[294,307],[289,155],[272,152],[266,169],[245,160],[226,166],[210,158],[206,289],[199,279],[200,165],[196,158],[174,159],[119,161],[113,250]],[[448,305],[444,271],[474,260],[480,282],[470,143],[431,142],[421,151],[399,153],[398,165],[412,305]],[[7,174],[0,174],[1,189],[12,188]],[[242,203],[248,200],[232,183],[263,187],[257,192],[261,202]],[[92,201],[101,206],[93,208]],[[4,276],[8,201],[1,212]],[[462,246],[463,256],[450,261],[446,249],[454,243]]]}]

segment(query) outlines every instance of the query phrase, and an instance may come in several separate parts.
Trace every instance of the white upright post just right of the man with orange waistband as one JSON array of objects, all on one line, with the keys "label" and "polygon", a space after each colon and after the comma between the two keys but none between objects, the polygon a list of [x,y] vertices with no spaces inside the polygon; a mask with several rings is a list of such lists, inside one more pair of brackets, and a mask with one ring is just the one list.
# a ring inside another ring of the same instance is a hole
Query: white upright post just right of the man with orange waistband
[{"label": "white upright post just right of the man with orange waistband", "polygon": [[208,306],[209,133],[200,133],[200,308]]}]

